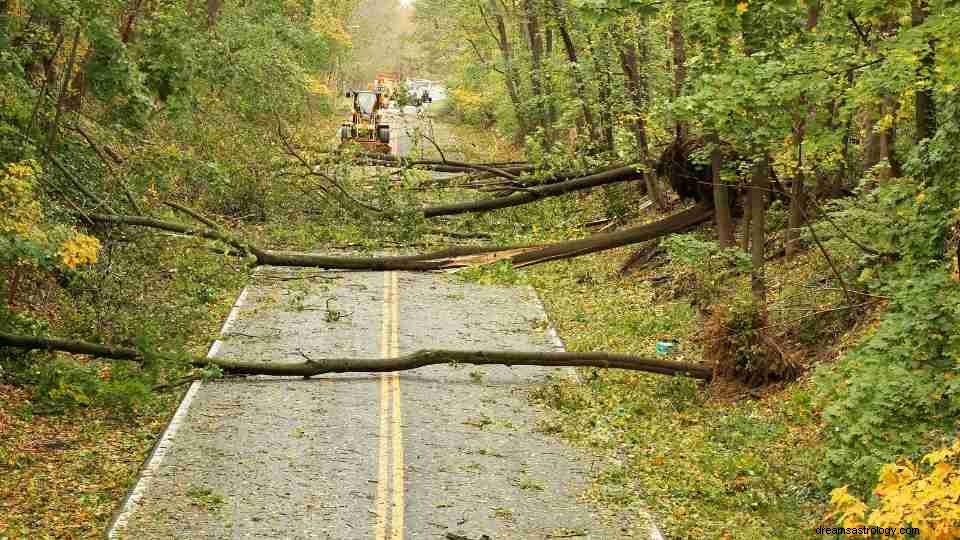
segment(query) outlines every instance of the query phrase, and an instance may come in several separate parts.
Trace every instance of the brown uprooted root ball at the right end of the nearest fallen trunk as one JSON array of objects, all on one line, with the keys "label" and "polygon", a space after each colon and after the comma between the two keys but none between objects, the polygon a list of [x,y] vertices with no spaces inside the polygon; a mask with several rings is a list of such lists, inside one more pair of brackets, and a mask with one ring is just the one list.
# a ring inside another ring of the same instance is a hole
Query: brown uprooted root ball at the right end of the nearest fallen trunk
[{"label": "brown uprooted root ball at the right end of the nearest fallen trunk", "polygon": [[715,307],[705,327],[704,358],[718,379],[757,387],[796,379],[796,354],[784,349],[756,309]]}]

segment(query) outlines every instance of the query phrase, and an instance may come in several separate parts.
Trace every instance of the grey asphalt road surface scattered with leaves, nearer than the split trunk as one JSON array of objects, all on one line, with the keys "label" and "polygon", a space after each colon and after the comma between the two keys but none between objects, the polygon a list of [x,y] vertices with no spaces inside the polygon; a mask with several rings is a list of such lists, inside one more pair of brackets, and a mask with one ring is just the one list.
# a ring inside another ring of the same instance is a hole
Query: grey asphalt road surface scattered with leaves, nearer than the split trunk
[{"label": "grey asphalt road surface scattered with leaves, nearer than the split trunk", "polygon": [[[261,267],[210,354],[282,362],[551,350],[552,336],[529,288]],[[563,376],[433,366],[195,383],[108,536],[650,538],[646,526],[628,530],[582,502],[589,463],[537,431],[527,393]]]}]

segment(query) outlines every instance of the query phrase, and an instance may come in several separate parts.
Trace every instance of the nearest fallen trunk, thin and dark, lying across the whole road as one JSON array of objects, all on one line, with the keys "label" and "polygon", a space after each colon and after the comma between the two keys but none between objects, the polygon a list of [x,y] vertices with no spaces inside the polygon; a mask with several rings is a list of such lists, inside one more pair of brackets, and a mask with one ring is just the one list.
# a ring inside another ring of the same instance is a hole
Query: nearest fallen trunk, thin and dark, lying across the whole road
[{"label": "nearest fallen trunk, thin and dark, lying across the whole road", "polygon": [[[0,346],[25,350],[63,351],[98,358],[142,362],[145,354],[125,347],[110,347],[86,341],[48,337],[20,336],[0,333]],[[160,355],[158,355],[160,356]],[[424,349],[393,358],[318,358],[303,362],[251,362],[230,358],[195,359],[197,366],[214,365],[236,375],[273,375],[313,377],[326,373],[370,373],[407,371],[438,364],[597,367],[630,369],[662,375],[683,375],[710,380],[713,370],[707,366],[674,362],[628,354],[603,352],[539,352],[539,351],[453,351]]]}]

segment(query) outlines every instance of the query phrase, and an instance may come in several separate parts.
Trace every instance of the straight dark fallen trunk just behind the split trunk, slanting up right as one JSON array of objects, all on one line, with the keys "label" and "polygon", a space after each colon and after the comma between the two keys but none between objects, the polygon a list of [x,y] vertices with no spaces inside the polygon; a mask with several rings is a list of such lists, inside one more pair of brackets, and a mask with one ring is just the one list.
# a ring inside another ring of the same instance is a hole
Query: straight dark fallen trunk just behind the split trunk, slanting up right
[{"label": "straight dark fallen trunk just behind the split trunk, slanting up right", "polygon": [[618,182],[629,182],[631,180],[637,180],[641,178],[643,178],[643,175],[637,172],[636,166],[626,165],[624,167],[610,169],[581,178],[574,178],[572,180],[565,180],[554,184],[538,185],[536,187],[524,189],[519,193],[514,193],[513,195],[509,195],[507,197],[494,197],[492,199],[483,199],[479,201],[467,201],[442,206],[430,206],[423,209],[423,215],[424,217],[432,218],[437,216],[464,214],[468,212],[486,212],[488,210],[496,210],[498,208],[519,206],[521,204],[527,204],[547,197],[556,197],[572,191],[592,189],[599,186],[615,184]]}]

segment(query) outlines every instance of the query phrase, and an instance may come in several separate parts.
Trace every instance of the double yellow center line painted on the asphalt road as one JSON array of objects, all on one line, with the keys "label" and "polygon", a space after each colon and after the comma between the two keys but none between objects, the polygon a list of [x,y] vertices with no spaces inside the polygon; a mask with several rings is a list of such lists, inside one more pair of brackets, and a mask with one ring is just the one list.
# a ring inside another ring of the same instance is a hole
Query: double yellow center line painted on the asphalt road
[{"label": "double yellow center line painted on the asphalt road", "polygon": [[[383,292],[380,355],[389,358],[398,356],[400,348],[400,293],[396,272],[384,272]],[[403,540],[402,418],[400,376],[397,372],[383,373],[380,375],[376,540]]]}]

